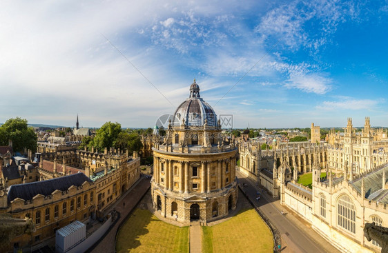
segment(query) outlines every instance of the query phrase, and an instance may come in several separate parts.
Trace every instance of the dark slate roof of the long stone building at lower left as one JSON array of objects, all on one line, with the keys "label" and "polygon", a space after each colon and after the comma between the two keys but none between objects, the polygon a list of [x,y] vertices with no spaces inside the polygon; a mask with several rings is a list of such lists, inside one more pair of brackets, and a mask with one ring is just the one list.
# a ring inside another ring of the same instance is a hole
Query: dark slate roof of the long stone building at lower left
[{"label": "dark slate roof of the long stone building at lower left", "polygon": [[49,196],[55,190],[66,191],[70,186],[81,186],[84,182],[91,183],[93,181],[88,176],[85,176],[85,174],[77,173],[69,176],[61,176],[57,179],[11,185],[8,190],[8,202],[17,198],[27,201],[37,196],[37,194]]}]

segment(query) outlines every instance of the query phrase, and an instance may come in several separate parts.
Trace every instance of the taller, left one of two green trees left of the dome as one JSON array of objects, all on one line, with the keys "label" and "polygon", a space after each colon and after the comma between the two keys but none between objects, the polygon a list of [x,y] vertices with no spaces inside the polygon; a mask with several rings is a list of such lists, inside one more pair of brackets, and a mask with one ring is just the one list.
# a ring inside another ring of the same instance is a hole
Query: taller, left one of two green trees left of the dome
[{"label": "taller, left one of two green trees left of the dome", "polygon": [[114,147],[120,132],[122,132],[120,123],[106,122],[97,130],[96,136],[93,141],[90,141],[89,146],[93,146],[99,151],[104,150],[104,148]]}]

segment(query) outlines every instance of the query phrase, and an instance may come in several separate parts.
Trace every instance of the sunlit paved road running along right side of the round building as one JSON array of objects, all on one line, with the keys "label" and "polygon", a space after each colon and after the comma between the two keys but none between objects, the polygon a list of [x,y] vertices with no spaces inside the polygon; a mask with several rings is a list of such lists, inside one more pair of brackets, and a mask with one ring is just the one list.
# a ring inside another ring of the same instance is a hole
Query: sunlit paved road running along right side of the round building
[{"label": "sunlit paved road running along right side of the round building", "polygon": [[[333,247],[328,241],[320,236],[311,225],[293,214],[291,210],[280,205],[280,201],[276,201],[269,194],[262,194],[260,201],[256,201],[256,192],[258,188],[253,180],[246,178],[242,173],[236,171],[239,183],[247,183],[244,191],[248,192],[248,196],[256,207],[258,207],[271,220],[273,225],[278,228],[282,236],[282,252],[305,252],[305,253],[320,253],[320,252],[339,252],[336,247]],[[284,215],[281,214],[282,210]]]}]

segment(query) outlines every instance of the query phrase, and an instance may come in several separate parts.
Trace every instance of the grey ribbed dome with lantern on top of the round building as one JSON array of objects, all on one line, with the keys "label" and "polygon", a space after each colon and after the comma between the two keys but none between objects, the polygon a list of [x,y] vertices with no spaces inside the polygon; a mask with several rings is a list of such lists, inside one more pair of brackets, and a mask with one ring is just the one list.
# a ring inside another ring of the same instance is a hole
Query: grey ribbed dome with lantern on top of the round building
[{"label": "grey ribbed dome with lantern on top of the round building", "polygon": [[178,106],[174,113],[174,125],[217,126],[217,114],[213,108],[200,97],[200,85],[190,85],[190,97]]}]

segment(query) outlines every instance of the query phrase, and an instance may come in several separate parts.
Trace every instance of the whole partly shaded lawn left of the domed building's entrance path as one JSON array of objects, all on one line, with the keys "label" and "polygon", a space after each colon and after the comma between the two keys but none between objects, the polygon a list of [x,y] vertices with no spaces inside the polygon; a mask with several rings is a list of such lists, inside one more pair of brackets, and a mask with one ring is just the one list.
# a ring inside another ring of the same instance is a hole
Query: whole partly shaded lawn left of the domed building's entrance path
[{"label": "whole partly shaded lawn left of the domed building's entrance path", "polygon": [[117,252],[188,252],[188,227],[160,221],[136,209],[117,234]]}]

